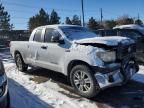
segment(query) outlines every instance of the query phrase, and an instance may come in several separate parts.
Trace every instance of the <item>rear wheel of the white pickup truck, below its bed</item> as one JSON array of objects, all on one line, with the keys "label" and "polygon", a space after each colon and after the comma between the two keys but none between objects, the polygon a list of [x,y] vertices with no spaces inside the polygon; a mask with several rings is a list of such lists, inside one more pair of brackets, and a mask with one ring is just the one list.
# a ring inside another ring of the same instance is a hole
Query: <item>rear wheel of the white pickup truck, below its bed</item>
[{"label": "rear wheel of the white pickup truck, below its bed", "polygon": [[28,65],[24,63],[23,58],[20,53],[17,53],[15,55],[15,62],[19,71],[21,72],[27,71]]}]

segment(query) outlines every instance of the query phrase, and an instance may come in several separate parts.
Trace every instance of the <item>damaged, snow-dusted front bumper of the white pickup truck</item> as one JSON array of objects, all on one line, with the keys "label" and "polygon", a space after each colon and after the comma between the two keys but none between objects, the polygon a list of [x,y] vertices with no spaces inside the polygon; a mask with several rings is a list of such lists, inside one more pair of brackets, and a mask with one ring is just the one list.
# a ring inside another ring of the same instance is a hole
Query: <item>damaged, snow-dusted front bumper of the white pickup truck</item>
[{"label": "damaged, snow-dusted front bumper of the white pickup truck", "polygon": [[126,59],[122,63],[112,63],[104,67],[92,68],[95,70],[95,78],[101,89],[122,85],[139,70],[134,59]]}]

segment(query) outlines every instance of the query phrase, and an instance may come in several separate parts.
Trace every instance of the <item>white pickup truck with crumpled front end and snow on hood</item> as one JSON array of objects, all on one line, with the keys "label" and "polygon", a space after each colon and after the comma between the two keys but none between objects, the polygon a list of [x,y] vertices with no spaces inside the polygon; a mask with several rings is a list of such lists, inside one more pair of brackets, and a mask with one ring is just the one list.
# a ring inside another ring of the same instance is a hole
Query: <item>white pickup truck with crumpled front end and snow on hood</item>
[{"label": "white pickup truck with crumpled front end and snow on hood", "polygon": [[11,42],[10,50],[20,71],[32,65],[60,72],[87,98],[126,83],[139,69],[133,40],[98,37],[80,26],[38,27],[29,42]]}]

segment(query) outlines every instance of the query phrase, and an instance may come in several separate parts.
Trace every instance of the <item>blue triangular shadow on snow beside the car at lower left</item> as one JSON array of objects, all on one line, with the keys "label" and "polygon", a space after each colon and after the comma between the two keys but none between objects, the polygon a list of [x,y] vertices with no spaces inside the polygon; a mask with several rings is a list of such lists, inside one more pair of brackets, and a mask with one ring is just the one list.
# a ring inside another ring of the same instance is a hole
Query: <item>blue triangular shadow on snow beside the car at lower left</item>
[{"label": "blue triangular shadow on snow beside the car at lower left", "polygon": [[9,79],[11,108],[52,108],[13,79]]}]

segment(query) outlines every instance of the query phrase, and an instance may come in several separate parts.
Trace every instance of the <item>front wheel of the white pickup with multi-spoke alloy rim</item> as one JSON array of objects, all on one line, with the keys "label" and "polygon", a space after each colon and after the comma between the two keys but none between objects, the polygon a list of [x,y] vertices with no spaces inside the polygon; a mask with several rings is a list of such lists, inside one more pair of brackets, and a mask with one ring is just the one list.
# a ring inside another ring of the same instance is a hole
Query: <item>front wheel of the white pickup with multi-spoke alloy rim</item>
[{"label": "front wheel of the white pickup with multi-spoke alloy rim", "polygon": [[94,74],[86,65],[73,67],[70,73],[70,82],[77,93],[86,98],[95,97],[100,91]]}]

